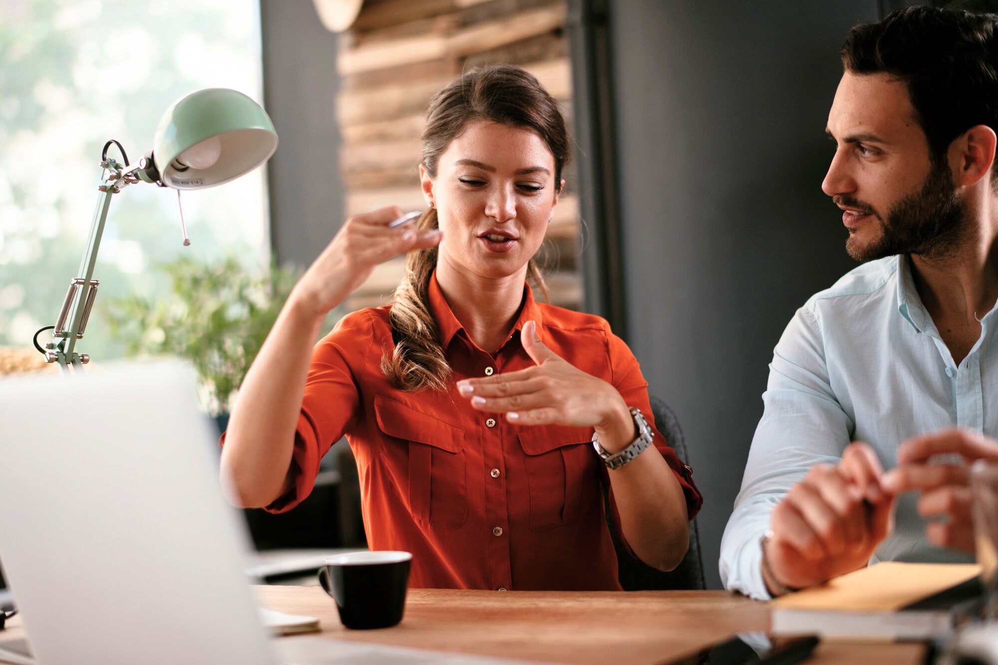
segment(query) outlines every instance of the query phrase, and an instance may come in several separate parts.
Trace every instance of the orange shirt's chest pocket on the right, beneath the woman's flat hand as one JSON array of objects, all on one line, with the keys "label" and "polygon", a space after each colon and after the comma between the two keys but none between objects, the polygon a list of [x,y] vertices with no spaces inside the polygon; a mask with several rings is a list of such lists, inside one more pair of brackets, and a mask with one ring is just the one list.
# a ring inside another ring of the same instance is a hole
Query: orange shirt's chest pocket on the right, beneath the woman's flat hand
[{"label": "orange shirt's chest pocket on the right, beneath the woman's flat hand", "polygon": [[536,426],[520,432],[530,485],[530,528],[572,524],[599,492],[592,429]]}]

